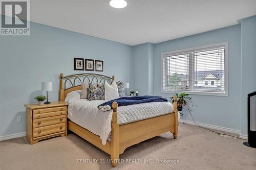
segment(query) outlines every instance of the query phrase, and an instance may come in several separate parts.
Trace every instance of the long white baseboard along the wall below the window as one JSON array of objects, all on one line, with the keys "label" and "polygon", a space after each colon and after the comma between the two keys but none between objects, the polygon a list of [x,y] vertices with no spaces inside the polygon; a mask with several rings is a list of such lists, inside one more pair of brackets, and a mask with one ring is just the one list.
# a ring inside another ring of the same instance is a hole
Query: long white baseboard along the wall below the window
[{"label": "long white baseboard along the wall below the window", "polygon": [[[182,119],[180,119],[180,124],[182,123]],[[184,120],[184,123],[190,124],[190,125],[196,125],[193,121],[191,120]],[[209,125],[209,124],[203,124],[203,123],[198,123],[196,122],[199,126],[209,128],[209,129],[215,129],[219,131],[224,131],[224,132],[229,132],[229,133],[234,133],[234,134],[240,134],[241,131],[237,129],[231,129],[231,128],[225,128],[221,126],[215,126],[215,125]]]}]

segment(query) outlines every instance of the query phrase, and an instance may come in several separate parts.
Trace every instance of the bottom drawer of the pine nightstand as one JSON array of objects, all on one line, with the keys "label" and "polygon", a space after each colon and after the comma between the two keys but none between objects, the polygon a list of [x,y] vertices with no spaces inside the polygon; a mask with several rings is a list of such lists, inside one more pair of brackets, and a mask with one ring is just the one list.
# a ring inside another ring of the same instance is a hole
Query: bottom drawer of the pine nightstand
[{"label": "bottom drawer of the pine nightstand", "polygon": [[45,127],[41,127],[41,128],[34,128],[33,129],[33,137],[36,138],[39,136],[45,136],[45,135],[62,132],[62,131],[66,131],[66,123],[50,125],[50,126],[45,126]]}]

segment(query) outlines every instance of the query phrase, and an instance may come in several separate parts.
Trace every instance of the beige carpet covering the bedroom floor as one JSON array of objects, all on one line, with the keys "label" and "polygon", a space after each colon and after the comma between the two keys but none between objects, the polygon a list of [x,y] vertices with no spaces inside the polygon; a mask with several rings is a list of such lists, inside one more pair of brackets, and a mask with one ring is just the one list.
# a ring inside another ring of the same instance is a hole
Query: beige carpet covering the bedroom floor
[{"label": "beige carpet covering the bedroom floor", "polygon": [[[242,139],[221,137],[192,125],[180,125],[178,139],[165,133],[127,148],[115,169],[256,169],[256,149]],[[77,163],[77,159],[108,161],[109,155],[69,134],[30,145],[25,138],[0,142],[0,169],[112,169],[110,163]],[[144,163],[145,160],[179,163]]]}]

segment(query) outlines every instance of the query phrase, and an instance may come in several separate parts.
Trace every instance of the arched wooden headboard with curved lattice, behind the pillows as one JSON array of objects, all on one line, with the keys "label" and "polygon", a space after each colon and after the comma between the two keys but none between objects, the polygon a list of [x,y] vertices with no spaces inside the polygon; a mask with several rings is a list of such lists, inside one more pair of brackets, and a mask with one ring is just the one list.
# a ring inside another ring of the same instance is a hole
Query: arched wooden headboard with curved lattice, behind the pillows
[{"label": "arched wooden headboard with curved lattice, behind the pillows", "polygon": [[67,94],[71,91],[81,90],[82,82],[88,83],[112,83],[115,80],[115,76],[112,78],[99,74],[76,74],[63,77],[63,74],[60,74],[60,83],[59,83],[59,101],[64,102]]}]

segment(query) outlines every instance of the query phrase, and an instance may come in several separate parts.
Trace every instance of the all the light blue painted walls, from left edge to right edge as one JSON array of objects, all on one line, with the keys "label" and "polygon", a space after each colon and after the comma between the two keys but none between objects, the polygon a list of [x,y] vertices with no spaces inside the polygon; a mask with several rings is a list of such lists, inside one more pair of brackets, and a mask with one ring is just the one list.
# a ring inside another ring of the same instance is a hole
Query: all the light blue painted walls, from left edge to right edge
[{"label": "all the light blue painted walls, from left edge to right edge", "polygon": [[[30,36],[0,37],[0,136],[25,131],[24,104],[36,102],[33,97],[41,93],[41,82],[53,82],[49,98],[57,101],[60,72],[85,72],[73,69],[74,57],[104,60],[100,74],[130,82],[129,90],[138,90],[140,95],[169,98],[172,94],[161,93],[161,53],[224,41],[229,42],[229,96],[192,95],[193,114],[197,122],[246,135],[246,95],[256,90],[255,30],[256,16],[243,19],[241,25],[130,46],[31,23]],[[22,116],[22,123],[16,123],[17,115]],[[184,119],[191,120],[187,110]]]}]

